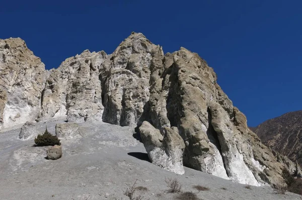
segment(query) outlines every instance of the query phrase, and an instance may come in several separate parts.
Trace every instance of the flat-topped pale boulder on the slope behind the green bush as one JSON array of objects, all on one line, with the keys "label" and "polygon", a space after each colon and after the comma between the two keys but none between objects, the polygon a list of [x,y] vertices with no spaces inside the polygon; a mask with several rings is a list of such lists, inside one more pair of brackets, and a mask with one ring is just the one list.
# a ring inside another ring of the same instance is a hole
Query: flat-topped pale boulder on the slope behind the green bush
[{"label": "flat-topped pale boulder on the slope behind the green bush", "polygon": [[55,135],[60,139],[82,137],[80,126],[77,123],[56,124]]}]

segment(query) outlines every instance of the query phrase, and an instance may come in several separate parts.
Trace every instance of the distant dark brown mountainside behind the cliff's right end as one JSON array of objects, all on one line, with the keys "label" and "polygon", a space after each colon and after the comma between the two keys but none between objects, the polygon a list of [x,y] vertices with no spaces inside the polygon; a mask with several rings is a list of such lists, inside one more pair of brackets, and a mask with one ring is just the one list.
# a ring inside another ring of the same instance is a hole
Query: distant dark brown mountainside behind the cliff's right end
[{"label": "distant dark brown mountainside behind the cliff's right end", "polygon": [[302,110],[269,119],[254,131],[265,145],[302,165]]}]

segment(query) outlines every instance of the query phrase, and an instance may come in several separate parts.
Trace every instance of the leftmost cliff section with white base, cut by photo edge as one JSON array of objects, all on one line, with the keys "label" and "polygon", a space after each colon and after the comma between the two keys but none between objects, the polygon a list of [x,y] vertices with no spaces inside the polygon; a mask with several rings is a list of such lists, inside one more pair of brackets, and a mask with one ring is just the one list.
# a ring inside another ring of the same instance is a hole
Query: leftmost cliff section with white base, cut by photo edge
[{"label": "leftmost cliff section with white base, cut by photo edge", "polygon": [[37,119],[46,70],[20,38],[0,39],[0,127]]}]

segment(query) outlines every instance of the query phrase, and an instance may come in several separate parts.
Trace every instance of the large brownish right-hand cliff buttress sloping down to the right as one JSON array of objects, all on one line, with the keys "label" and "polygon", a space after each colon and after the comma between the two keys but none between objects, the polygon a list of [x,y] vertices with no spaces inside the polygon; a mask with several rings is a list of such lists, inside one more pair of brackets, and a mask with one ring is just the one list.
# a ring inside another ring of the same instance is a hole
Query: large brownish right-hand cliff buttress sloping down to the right
[{"label": "large brownish right-hand cliff buttress sloping down to the right", "polygon": [[149,122],[159,130],[178,128],[186,144],[185,165],[251,185],[283,181],[281,170],[288,164],[277,161],[250,131],[246,117],[220,89],[204,60],[184,48],[156,58]]}]

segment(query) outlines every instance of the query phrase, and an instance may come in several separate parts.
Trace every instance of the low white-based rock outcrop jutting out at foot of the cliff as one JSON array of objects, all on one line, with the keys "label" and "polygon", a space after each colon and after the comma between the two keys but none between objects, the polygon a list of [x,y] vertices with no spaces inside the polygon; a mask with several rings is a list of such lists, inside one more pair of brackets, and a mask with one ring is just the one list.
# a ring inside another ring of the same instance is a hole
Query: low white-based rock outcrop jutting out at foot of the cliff
[{"label": "low white-based rock outcrop jutting out at foot of the cliff", "polygon": [[163,130],[163,136],[160,130],[144,121],[139,131],[148,157],[153,164],[178,174],[185,173],[183,167],[185,143],[176,127],[166,127]]}]

